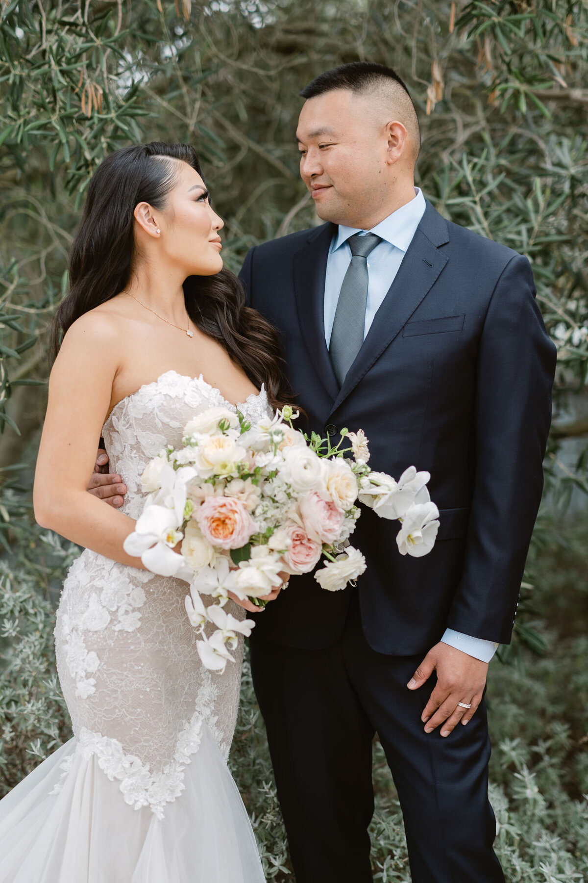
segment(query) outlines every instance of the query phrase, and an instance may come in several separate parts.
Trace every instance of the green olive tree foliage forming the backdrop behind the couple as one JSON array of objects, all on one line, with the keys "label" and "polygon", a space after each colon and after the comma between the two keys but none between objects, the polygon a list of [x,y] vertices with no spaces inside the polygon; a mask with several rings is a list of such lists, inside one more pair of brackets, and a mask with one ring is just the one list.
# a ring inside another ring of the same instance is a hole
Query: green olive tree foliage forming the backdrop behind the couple
[{"label": "green olive tree foliage forming the backdrop behind the couple", "polygon": [[[516,665],[503,675],[509,690],[525,681],[529,651],[520,647],[545,648],[532,587],[542,585],[554,541],[571,548],[558,525],[572,489],[588,492],[585,0],[0,0],[0,793],[68,735],[51,630],[75,549],[33,525],[30,476],[48,327],[67,291],[68,248],[93,170],[130,143],[192,143],[225,219],[223,255],[237,270],[251,245],[319,223],[298,173],[298,93],[319,72],[356,60],[391,64],[406,81],[421,122],[417,184],[435,208],[532,262],[558,348],[546,457],[552,514],[540,517],[533,538]],[[585,694],[585,676],[569,665],[570,683]],[[586,870],[575,858],[580,834],[564,833],[572,821],[584,834],[588,825],[577,803],[588,790],[581,761],[581,775],[566,784],[567,815],[559,828],[554,821],[564,798],[553,769],[568,763],[566,746],[580,737],[558,736],[549,717],[549,666],[537,669],[545,701],[533,694],[532,715],[554,729],[559,759],[533,772],[547,736],[533,730],[528,745],[513,746],[515,711],[501,732],[507,772],[495,775],[494,788],[512,879],[582,879]],[[507,707],[516,708],[514,698]],[[235,745],[267,875],[291,879],[249,680]],[[376,780],[383,769],[376,765]],[[408,879],[390,794],[384,782],[374,823],[383,881]]]}]

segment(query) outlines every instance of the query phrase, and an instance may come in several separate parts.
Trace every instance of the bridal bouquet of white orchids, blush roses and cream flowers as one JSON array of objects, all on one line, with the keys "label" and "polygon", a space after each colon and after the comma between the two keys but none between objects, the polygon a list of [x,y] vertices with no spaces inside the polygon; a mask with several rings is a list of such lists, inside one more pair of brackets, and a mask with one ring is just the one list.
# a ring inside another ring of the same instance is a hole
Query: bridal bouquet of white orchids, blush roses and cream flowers
[{"label": "bridal bouquet of white orchids, blush roses and cream flowers", "polygon": [[[322,557],[315,579],[329,592],[363,573],[365,559],[348,540],[358,500],[400,521],[401,555],[427,555],[435,543],[439,512],[428,472],[411,466],[398,482],[372,472],[361,430],[343,430],[331,447],[294,429],[297,416],[285,407],[251,426],[239,411],[209,408],[185,426],[182,447],[163,449],[141,477],[149,495],[124,549],[147,570],[190,583],[186,612],[206,668],[224,671],[237,633],[249,635],[255,624],[227,613],[228,592],[263,606],[280,573],[309,573]],[[202,594],[216,603],[205,607]],[[215,627],[210,636],[207,624]]]}]

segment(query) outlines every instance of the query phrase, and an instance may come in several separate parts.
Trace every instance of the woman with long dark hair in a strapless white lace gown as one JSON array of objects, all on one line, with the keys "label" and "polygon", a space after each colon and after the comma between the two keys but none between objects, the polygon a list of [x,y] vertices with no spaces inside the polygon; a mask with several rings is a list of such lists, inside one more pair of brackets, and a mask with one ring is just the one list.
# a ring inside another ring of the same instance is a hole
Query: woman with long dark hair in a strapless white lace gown
[{"label": "woman with long dark hair in a strapless white lace gown", "polygon": [[[188,419],[224,404],[253,421],[285,394],[277,337],[222,268],[221,227],[190,147],[126,147],[89,186],[34,482],[38,522],[86,547],[56,615],[74,737],[0,801],[1,883],[264,880],[226,765],[242,645],[223,675],[203,668],[187,584],[123,551],[145,464]],[[100,435],[129,488],[120,510],[86,493]]]}]

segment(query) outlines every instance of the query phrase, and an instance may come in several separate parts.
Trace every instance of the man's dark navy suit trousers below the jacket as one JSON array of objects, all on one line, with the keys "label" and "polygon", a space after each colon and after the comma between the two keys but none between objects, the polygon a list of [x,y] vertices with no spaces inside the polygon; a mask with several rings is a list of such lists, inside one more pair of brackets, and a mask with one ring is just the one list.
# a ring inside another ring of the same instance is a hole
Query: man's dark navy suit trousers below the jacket
[{"label": "man's dark navy suit trousers below the jacket", "polygon": [[375,733],[398,789],[413,883],[503,883],[484,703],[450,736],[426,734],[421,713],[435,678],[406,688],[423,654],[372,650],[356,598],[335,645],[304,650],[255,638],[250,652],[296,883],[371,881]]}]

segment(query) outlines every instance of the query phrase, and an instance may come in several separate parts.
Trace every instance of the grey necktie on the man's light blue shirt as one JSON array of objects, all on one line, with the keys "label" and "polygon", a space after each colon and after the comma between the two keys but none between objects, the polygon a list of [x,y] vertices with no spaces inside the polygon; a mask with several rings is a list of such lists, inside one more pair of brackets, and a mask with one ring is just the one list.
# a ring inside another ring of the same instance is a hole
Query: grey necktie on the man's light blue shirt
[{"label": "grey necktie on the man's light blue shirt", "polygon": [[329,355],[339,386],[343,386],[347,371],[361,350],[368,300],[367,259],[382,239],[375,233],[366,233],[365,236],[355,233],[347,242],[352,259],[341,285],[329,344]]}]

